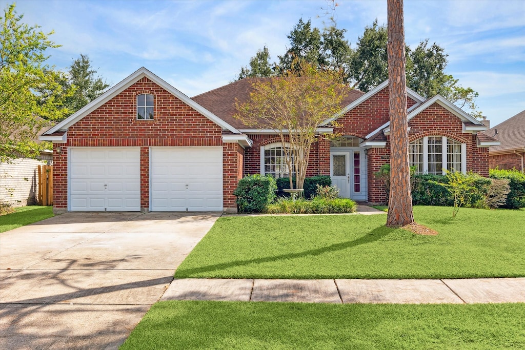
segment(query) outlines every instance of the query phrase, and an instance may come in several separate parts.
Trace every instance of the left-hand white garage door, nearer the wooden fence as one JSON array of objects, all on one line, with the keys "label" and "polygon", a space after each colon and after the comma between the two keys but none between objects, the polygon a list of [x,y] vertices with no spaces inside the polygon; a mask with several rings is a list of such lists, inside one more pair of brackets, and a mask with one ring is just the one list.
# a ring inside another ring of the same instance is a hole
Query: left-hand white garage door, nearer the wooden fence
[{"label": "left-hand white garage door, nearer the wooden fence", "polygon": [[69,210],[140,211],[140,148],[70,147]]}]

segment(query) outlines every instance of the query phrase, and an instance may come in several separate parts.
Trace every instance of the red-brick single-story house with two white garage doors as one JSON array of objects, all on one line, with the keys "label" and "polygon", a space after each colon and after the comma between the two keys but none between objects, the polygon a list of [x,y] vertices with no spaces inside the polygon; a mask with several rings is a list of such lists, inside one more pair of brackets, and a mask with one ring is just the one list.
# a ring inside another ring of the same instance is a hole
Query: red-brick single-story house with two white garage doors
[{"label": "red-brick single-story house with two white garage doors", "polygon": [[[137,70],[40,136],[54,143],[55,211],[235,212],[241,177],[288,176],[277,134],[233,118],[235,101],[249,98],[252,82],[190,99],[149,70]],[[487,127],[441,96],[407,94],[417,172],[487,176],[487,147],[496,140],[477,136]],[[313,145],[308,176],[331,176],[343,197],[385,201],[374,174],[389,162],[389,131],[388,83],[367,93],[349,90],[341,111],[318,130],[341,137]]]}]

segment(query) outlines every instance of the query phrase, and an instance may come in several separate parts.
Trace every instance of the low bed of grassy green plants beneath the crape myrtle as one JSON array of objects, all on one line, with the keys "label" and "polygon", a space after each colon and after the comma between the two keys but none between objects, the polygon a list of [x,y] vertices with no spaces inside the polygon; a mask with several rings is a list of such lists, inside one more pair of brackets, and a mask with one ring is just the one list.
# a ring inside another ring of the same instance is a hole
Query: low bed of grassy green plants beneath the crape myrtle
[{"label": "low bed of grassy green plants beneath the crape myrtle", "polygon": [[268,205],[269,214],[343,214],[355,213],[356,203],[348,198],[312,199],[279,197],[275,203]]}]

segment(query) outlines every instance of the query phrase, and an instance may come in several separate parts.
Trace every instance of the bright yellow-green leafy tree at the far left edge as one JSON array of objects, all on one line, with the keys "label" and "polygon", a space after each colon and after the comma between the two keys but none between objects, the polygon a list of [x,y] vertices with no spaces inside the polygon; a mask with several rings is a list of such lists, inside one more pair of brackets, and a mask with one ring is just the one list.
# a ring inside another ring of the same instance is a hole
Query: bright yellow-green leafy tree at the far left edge
[{"label": "bright yellow-green leafy tree at the far left edge", "polygon": [[[60,74],[45,64],[48,48],[58,47],[37,25],[22,23],[15,5],[0,17],[0,162],[38,155],[35,142],[44,119],[60,119],[66,94]],[[45,91],[45,94],[41,91]]]}]

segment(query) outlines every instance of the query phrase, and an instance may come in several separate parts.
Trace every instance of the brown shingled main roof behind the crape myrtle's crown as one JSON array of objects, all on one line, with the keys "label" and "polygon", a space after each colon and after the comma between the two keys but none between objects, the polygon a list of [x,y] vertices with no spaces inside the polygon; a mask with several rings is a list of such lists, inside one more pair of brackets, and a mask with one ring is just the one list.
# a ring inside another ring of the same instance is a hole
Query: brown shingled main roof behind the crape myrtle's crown
[{"label": "brown shingled main roof behind the crape myrtle's crown", "polygon": [[[236,99],[239,103],[248,102],[250,99],[250,92],[253,91],[251,87],[254,82],[265,81],[274,78],[244,78],[235,82],[229,83],[223,87],[217,88],[192,97],[192,100],[202,105],[208,111],[212,112],[226,123],[232,125],[236,129],[246,129],[247,126],[238,119],[234,119],[233,115],[237,113],[235,108]],[[347,88],[346,97],[341,102],[341,108],[352,103],[360,98],[364,92]]]}]

